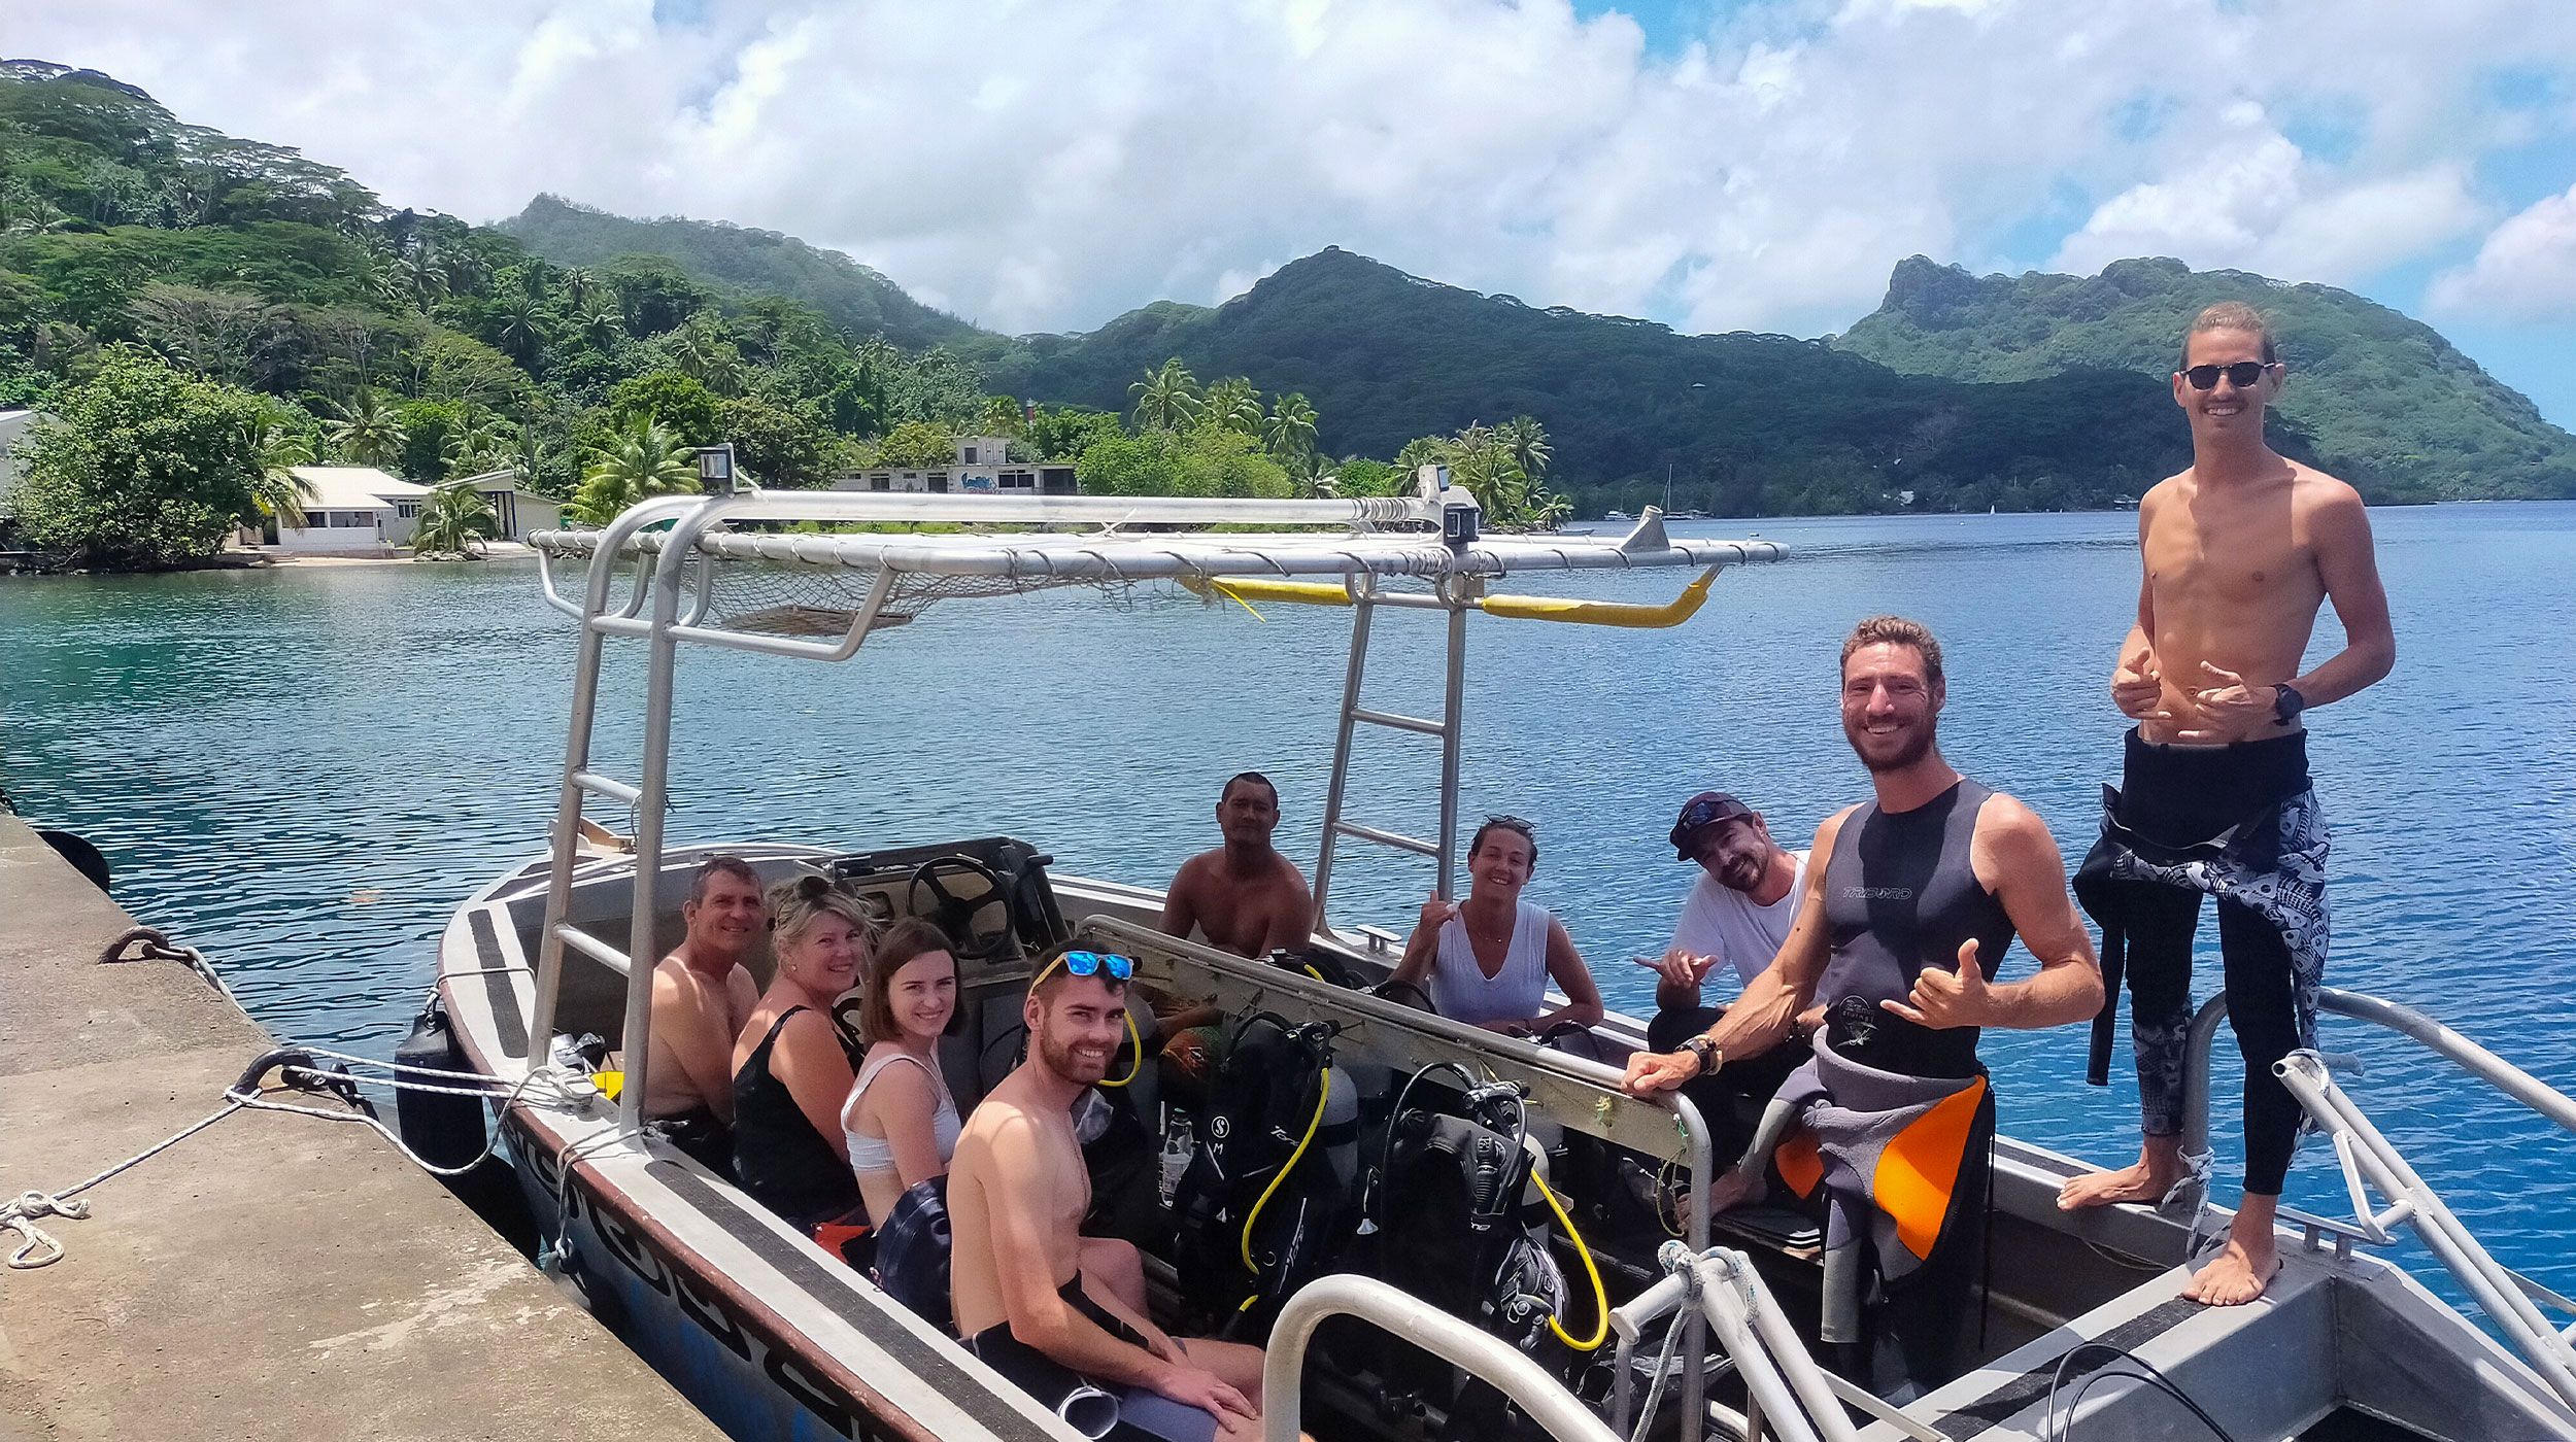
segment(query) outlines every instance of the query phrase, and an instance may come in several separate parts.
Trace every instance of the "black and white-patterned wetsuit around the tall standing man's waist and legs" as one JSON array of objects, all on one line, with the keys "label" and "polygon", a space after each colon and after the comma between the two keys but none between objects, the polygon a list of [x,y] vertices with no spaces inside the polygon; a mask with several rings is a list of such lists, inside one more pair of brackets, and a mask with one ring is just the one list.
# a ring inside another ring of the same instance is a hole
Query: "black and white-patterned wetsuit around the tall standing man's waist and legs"
[{"label": "black and white-patterned wetsuit around the tall standing man's waist and legs", "polygon": [[2272,1063],[2316,1045],[2326,850],[2306,731],[2233,747],[2172,747],[2130,731],[2120,788],[2102,788],[2102,837],[2074,881],[2102,927],[2105,997],[2087,1082],[2110,1079],[2125,976],[2148,1136],[2182,1130],[2192,932],[2200,899],[2218,899],[2228,1025],[2246,1063],[2246,1192],[2280,1195],[2298,1143],[2303,1112]]}]

